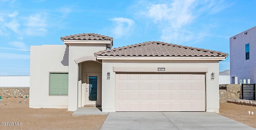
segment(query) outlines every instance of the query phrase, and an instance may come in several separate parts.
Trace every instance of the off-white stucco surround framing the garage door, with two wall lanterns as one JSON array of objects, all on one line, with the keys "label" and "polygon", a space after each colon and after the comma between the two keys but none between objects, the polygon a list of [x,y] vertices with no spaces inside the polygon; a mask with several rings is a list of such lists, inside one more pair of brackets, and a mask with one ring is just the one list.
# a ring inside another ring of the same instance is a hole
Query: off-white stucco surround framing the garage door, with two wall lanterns
[{"label": "off-white stucco surround framing the garage door, with two wall lanterns", "polygon": [[[115,112],[115,74],[113,67],[152,68],[208,68],[206,72],[206,112],[219,112],[219,62],[218,60],[102,60],[102,112]],[[189,69],[188,69],[189,70]],[[110,80],[106,74],[110,72]],[[211,80],[211,73],[215,79]]]}]

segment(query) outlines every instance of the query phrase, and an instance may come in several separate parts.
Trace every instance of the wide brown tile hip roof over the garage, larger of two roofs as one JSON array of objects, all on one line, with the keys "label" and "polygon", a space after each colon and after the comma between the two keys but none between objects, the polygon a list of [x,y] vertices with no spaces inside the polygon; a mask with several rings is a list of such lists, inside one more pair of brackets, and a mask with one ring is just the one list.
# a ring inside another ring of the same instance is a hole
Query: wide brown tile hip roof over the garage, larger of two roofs
[{"label": "wide brown tile hip roof over the garage, larger of two roofs", "polygon": [[177,57],[228,57],[227,53],[205,50],[159,41],[149,41],[135,45],[102,50],[95,56],[177,56]]}]

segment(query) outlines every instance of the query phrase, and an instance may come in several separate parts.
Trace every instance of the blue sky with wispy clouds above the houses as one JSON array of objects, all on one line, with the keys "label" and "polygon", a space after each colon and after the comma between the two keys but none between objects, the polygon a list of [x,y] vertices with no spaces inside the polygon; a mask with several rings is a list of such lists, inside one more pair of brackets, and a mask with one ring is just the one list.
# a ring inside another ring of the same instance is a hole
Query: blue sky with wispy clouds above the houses
[{"label": "blue sky with wispy clouds above the houses", "polygon": [[[0,75],[29,75],[30,46],[98,33],[114,47],[146,41],[229,53],[229,37],[256,25],[255,0],[0,0]],[[229,58],[220,71],[229,69]]]}]

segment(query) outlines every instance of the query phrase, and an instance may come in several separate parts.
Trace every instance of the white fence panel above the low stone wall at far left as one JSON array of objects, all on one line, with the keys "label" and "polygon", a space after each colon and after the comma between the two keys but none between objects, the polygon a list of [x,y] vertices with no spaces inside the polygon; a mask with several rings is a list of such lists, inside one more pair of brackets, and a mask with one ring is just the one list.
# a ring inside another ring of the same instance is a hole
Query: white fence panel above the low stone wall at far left
[{"label": "white fence panel above the low stone wall at far left", "polygon": [[29,87],[29,76],[0,76],[0,87]]}]

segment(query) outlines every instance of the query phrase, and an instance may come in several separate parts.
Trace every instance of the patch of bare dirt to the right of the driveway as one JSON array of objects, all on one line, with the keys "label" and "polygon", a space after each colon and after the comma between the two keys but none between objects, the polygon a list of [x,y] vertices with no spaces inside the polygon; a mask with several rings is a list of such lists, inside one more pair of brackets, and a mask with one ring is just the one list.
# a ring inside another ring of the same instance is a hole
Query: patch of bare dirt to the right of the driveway
[{"label": "patch of bare dirt to the right of the driveway", "polygon": [[[248,114],[248,111],[254,112],[254,114]],[[256,107],[234,103],[220,103],[220,115],[256,128]]]}]

